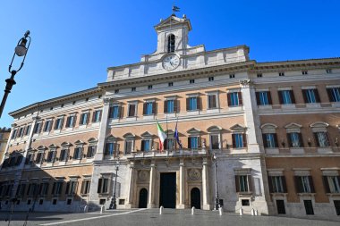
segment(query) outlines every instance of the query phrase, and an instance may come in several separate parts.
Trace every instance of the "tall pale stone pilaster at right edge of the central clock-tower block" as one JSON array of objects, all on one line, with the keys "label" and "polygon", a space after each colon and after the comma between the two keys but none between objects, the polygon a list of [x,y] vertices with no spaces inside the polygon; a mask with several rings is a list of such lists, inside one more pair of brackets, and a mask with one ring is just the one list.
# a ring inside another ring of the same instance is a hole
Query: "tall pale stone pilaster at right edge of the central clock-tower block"
[{"label": "tall pale stone pilaster at right edge of the central clock-tower block", "polygon": [[[240,80],[242,85],[242,102],[244,110],[244,122],[247,127],[247,142],[249,153],[259,153],[259,116],[257,114],[255,90],[251,87],[250,80]],[[258,130],[258,131],[257,131]]]}]

